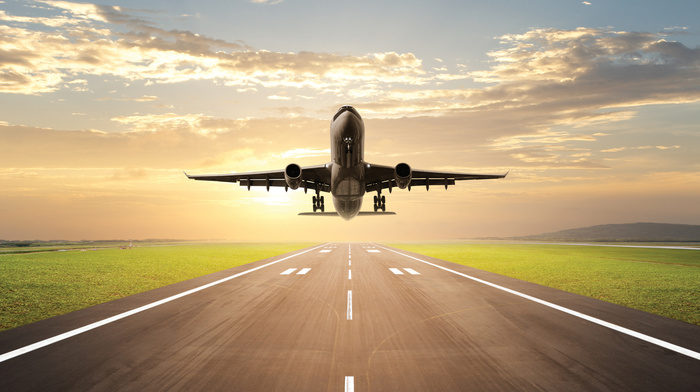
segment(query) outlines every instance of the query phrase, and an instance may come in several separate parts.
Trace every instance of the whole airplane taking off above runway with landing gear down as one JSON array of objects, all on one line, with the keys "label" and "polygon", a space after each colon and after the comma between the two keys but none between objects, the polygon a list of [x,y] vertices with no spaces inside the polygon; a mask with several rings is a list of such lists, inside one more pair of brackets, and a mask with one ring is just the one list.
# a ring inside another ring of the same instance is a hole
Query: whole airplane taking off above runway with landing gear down
[{"label": "whole airplane taking off above runway with landing gear down", "polygon": [[[313,212],[300,215],[339,215],[350,220],[357,215],[390,215],[386,211],[386,197],[382,190],[393,188],[411,190],[411,187],[454,185],[455,181],[488,180],[505,178],[506,174],[469,174],[439,171],[413,170],[407,163],[396,166],[375,165],[365,162],[365,126],[362,117],[350,105],[343,105],[331,120],[331,161],[316,166],[300,167],[290,163],[284,170],[248,173],[189,175],[192,180],[238,182],[250,190],[252,186],[303,188],[316,193],[312,197]],[[336,212],[325,212],[325,200],[321,192],[330,192]],[[360,211],[365,193],[374,196],[374,211]],[[380,211],[381,210],[381,211]],[[321,211],[321,212],[317,212]]]}]

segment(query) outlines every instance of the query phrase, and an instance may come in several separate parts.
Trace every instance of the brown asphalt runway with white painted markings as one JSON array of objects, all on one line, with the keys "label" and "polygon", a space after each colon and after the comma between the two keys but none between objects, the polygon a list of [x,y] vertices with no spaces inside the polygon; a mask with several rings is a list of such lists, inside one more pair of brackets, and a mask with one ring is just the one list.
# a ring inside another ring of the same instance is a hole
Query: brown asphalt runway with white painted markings
[{"label": "brown asphalt runway with white painted markings", "polygon": [[695,325],[340,243],[2,332],[0,389],[691,391],[698,353]]}]

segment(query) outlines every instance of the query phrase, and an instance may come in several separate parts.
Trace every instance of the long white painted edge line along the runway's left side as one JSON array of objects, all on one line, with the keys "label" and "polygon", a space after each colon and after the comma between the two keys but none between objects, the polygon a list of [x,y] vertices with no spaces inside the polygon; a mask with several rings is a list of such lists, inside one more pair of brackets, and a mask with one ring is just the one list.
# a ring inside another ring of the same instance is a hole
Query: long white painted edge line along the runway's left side
[{"label": "long white painted edge line along the runway's left side", "polygon": [[62,333],[62,334],[60,334],[60,335],[56,335],[56,336],[54,336],[54,337],[52,337],[52,338],[44,339],[44,340],[39,341],[39,342],[36,342],[36,343],[34,343],[34,344],[30,344],[30,345],[28,345],[28,346],[24,346],[24,347],[22,347],[22,348],[18,348],[18,349],[16,349],[16,350],[13,350],[13,351],[10,351],[10,352],[8,352],[8,353],[5,353],[5,354],[0,355],[0,362],[5,362],[5,361],[7,361],[7,360],[9,360],[9,359],[12,359],[12,358],[18,357],[18,356],[20,356],[20,355],[23,355],[23,354],[32,352],[32,351],[34,351],[34,350],[38,350],[38,349],[40,349],[40,348],[42,348],[42,347],[46,347],[46,346],[51,345],[51,344],[54,344],[54,343],[56,343],[56,342],[60,342],[61,340],[65,340],[65,339],[71,338],[71,337],[73,337],[73,336],[80,335],[80,334],[83,333],[83,332],[87,332],[87,331],[93,330],[93,329],[95,329],[95,328],[99,328],[99,327],[101,327],[101,326],[103,326],[103,325],[107,325],[107,324],[113,323],[113,322],[115,322],[115,321],[117,321],[117,320],[121,320],[121,319],[123,319],[123,318],[126,318],[126,317],[132,316],[132,315],[134,315],[134,314],[143,312],[144,310],[148,310],[148,309],[151,309],[151,308],[155,308],[156,306],[160,306],[160,305],[163,305],[163,304],[165,304],[165,303],[174,301],[174,300],[176,300],[176,299],[179,299],[179,298],[188,296],[188,295],[190,295],[190,294],[196,293],[196,292],[198,292],[198,291],[202,291],[202,290],[204,290],[204,289],[208,289],[209,287],[213,287],[213,286],[216,286],[216,285],[218,285],[218,284],[221,284],[221,283],[224,283],[224,282],[228,282],[228,281],[231,280],[231,279],[235,279],[235,278],[238,278],[239,276],[243,276],[243,275],[249,274],[249,273],[251,273],[251,272],[254,272],[254,271],[263,269],[263,268],[265,268],[265,267],[269,267],[269,266],[274,265],[274,264],[277,264],[277,263],[279,263],[279,262],[282,262],[282,261],[291,259],[292,257],[296,257],[296,256],[299,256],[299,255],[303,255],[304,253],[311,252],[311,251],[316,250],[316,249],[318,249],[318,248],[321,248],[321,247],[323,247],[323,246],[325,246],[325,245],[319,245],[319,246],[317,246],[317,247],[315,247],[315,248],[307,249],[307,250],[305,250],[305,251],[303,251],[303,252],[299,252],[299,253],[293,254],[293,255],[291,255],[291,256],[287,256],[287,257],[285,257],[285,258],[282,258],[282,259],[279,259],[279,260],[275,260],[275,261],[269,262],[269,263],[264,264],[264,265],[261,265],[261,266],[259,266],[259,267],[251,268],[251,269],[249,269],[249,270],[247,270],[247,271],[239,272],[239,273],[237,273],[237,274],[235,274],[235,275],[231,275],[231,276],[229,276],[229,277],[226,277],[226,278],[223,278],[223,279],[219,279],[219,280],[217,280],[217,281],[215,281],[215,282],[211,282],[211,283],[205,284],[205,285],[203,285],[203,286],[196,287],[196,288],[194,288],[194,289],[192,289],[192,290],[184,291],[184,292],[182,292],[182,293],[180,293],[180,294],[175,294],[175,295],[170,296],[170,297],[168,297],[168,298],[161,299],[160,301],[152,302],[152,303],[150,303],[150,304],[148,304],[148,305],[144,305],[144,306],[141,306],[141,307],[136,308],[136,309],[133,309],[133,310],[129,310],[129,311],[124,312],[124,313],[120,313],[120,314],[118,314],[118,315],[116,315],[116,316],[112,316],[112,317],[106,318],[106,319],[104,319],[104,320],[97,321],[97,322],[94,322],[94,323],[92,323],[92,324],[88,324],[88,325],[86,325],[86,326],[84,326],[84,327],[80,327],[80,328],[74,329],[74,330],[72,330],[72,331],[68,331],[68,332]]}]

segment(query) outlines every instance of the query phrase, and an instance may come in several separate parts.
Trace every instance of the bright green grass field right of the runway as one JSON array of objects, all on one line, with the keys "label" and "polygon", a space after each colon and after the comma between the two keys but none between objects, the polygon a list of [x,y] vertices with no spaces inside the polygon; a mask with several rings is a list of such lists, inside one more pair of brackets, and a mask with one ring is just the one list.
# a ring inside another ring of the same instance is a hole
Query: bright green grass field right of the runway
[{"label": "bright green grass field right of the runway", "polygon": [[392,244],[700,325],[700,250],[529,244]]}]

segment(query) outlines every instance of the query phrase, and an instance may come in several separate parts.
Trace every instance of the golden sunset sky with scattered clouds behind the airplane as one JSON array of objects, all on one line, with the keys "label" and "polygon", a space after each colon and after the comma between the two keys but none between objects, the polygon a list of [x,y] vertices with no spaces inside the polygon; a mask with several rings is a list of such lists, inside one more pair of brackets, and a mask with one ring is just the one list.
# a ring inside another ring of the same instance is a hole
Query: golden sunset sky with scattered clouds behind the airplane
[{"label": "golden sunset sky with scattered clouds behind the airplane", "polygon": [[[0,239],[700,224],[698,15],[695,0],[0,1]],[[298,216],[303,190],[183,174],[326,163],[344,104],[368,162],[509,175],[395,189],[396,216],[346,222]]]}]

